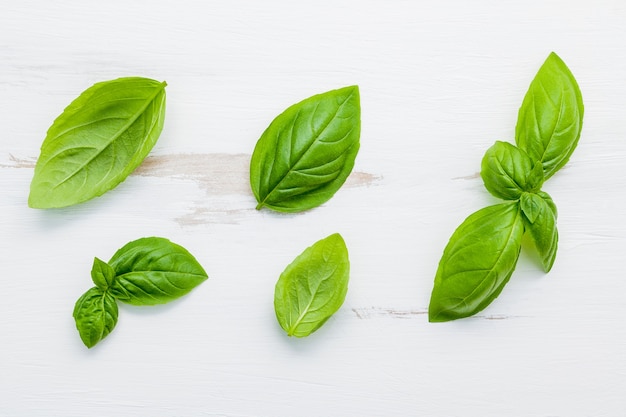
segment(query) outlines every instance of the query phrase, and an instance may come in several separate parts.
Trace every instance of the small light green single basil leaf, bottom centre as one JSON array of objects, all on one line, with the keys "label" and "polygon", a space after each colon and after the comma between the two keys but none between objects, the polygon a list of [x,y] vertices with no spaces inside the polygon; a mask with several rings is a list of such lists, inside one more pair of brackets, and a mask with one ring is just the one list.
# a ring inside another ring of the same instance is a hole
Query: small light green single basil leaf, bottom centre
[{"label": "small light green single basil leaf, bottom centre", "polygon": [[305,337],[319,329],[343,304],[349,275],[348,249],[338,233],[305,249],[276,283],[274,310],[283,330]]}]

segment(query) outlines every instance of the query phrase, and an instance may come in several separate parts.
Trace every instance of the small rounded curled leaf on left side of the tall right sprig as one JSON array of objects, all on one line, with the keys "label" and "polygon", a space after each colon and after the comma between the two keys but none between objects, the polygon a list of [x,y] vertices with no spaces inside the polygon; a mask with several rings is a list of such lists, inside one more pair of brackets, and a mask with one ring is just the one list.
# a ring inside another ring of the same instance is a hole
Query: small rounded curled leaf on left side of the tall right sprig
[{"label": "small rounded curled leaf on left side of the tall right sprig", "polygon": [[538,191],[543,182],[543,170],[526,152],[507,142],[496,142],[487,150],[481,163],[480,175],[485,188],[496,197],[517,200],[525,191]]}]

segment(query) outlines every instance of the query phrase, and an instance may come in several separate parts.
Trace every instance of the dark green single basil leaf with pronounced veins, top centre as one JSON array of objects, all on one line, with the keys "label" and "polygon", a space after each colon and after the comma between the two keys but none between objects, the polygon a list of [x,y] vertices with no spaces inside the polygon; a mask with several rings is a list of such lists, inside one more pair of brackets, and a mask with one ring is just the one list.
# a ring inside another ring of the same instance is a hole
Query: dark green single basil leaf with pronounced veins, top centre
[{"label": "dark green single basil leaf with pronounced veins, top centre", "polygon": [[281,113],[252,154],[257,209],[299,212],[328,201],[352,171],[360,131],[357,86],[315,95]]}]

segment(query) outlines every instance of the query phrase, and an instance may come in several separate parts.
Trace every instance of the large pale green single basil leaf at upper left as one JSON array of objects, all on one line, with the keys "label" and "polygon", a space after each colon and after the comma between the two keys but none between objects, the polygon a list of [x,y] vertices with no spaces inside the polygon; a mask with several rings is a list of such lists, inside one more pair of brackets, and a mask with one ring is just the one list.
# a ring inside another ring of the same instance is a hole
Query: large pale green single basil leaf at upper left
[{"label": "large pale green single basil leaf at upper left", "polygon": [[122,182],[161,133],[165,86],[165,82],[131,77],[85,90],[48,130],[35,166],[29,206],[82,203]]}]

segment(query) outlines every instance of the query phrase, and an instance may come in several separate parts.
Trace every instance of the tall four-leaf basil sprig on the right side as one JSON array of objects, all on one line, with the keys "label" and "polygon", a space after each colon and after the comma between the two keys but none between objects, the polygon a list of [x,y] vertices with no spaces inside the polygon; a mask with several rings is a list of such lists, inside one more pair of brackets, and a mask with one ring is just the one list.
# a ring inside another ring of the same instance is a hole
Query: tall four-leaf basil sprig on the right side
[{"label": "tall four-leaf basil sprig on the right side", "polygon": [[513,274],[525,232],[544,271],[550,271],[558,245],[557,210],[541,187],[574,152],[583,113],[574,76],[551,53],[519,110],[517,147],[496,142],[482,160],[485,188],[507,202],[470,215],[453,233],[435,276],[429,321],[474,315],[498,297]]}]

